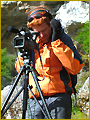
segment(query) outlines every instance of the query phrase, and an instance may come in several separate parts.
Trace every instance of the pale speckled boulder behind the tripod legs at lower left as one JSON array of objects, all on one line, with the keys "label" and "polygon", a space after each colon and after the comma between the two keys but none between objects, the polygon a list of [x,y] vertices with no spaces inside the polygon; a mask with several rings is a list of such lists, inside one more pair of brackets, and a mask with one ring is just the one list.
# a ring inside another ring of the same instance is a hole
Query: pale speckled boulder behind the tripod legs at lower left
[{"label": "pale speckled boulder behind the tripod legs at lower left", "polygon": [[[1,91],[1,105],[5,101],[11,87],[12,85],[8,85],[4,87],[4,89]],[[13,100],[13,98],[19,92],[20,89],[21,87],[16,86],[7,105],[9,105],[9,103]],[[22,102],[23,102],[23,92],[18,96],[18,98],[14,101],[14,103],[10,106],[10,108],[4,114],[3,119],[20,119],[22,116]]]}]

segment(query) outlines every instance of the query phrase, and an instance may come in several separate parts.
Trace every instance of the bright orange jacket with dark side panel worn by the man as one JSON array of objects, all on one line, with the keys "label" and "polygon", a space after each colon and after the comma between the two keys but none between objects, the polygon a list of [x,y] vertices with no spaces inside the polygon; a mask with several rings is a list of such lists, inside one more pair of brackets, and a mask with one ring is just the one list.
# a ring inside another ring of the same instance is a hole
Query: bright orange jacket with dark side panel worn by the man
[{"label": "bright orange jacket with dark side panel worn by the man", "polygon": [[[37,78],[41,87],[43,96],[51,96],[56,93],[72,93],[72,82],[70,74],[77,74],[83,63],[74,58],[74,52],[65,45],[60,39],[40,46],[40,55],[43,63],[43,70],[38,51],[35,51],[35,69],[39,73]],[[23,58],[18,56],[19,61],[15,64],[17,72],[20,71],[20,64],[23,65]],[[20,64],[19,64],[20,62]],[[45,79],[42,80],[44,71]],[[33,86],[32,91],[36,97],[40,97],[38,90],[35,93],[36,85],[32,74],[29,73],[29,84]],[[29,97],[32,94],[29,92]]]}]

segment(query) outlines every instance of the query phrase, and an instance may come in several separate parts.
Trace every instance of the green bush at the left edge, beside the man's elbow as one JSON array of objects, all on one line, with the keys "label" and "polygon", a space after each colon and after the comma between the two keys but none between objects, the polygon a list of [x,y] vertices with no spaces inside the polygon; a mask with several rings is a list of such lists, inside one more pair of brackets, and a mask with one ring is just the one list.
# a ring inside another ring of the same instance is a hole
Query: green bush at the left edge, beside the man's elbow
[{"label": "green bush at the left edge, beside the man's elbow", "polygon": [[7,52],[7,48],[1,49],[1,88],[9,84],[14,71],[15,55],[11,55]]}]

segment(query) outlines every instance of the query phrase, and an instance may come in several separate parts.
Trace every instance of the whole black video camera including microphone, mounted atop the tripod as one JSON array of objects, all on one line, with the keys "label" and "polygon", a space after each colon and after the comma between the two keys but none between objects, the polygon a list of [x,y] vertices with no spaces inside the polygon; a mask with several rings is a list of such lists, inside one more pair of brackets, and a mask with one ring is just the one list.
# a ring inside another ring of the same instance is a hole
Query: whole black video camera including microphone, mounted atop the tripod
[{"label": "whole black video camera including microphone, mounted atop the tripod", "polygon": [[13,45],[18,48],[20,52],[29,52],[32,47],[36,46],[36,38],[39,36],[39,32],[26,31],[25,27],[21,27],[20,30],[9,26],[8,31],[16,33],[13,38]]}]

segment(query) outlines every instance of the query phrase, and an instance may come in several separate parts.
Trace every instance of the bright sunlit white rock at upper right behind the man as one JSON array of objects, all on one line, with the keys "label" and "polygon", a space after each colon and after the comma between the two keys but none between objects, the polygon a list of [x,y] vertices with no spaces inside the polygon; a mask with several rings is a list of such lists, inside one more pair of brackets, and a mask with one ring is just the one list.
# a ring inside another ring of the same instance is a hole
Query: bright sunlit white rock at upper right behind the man
[{"label": "bright sunlit white rock at upper right behind the man", "polygon": [[82,23],[89,21],[89,4],[82,1],[70,1],[62,5],[56,14],[55,18],[60,20],[68,34],[71,34],[82,27]]}]

